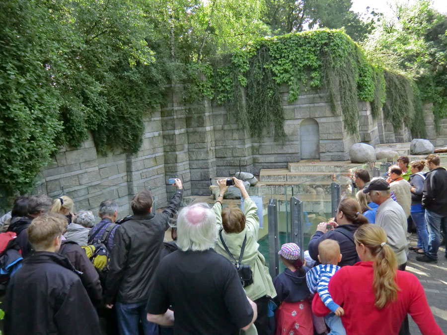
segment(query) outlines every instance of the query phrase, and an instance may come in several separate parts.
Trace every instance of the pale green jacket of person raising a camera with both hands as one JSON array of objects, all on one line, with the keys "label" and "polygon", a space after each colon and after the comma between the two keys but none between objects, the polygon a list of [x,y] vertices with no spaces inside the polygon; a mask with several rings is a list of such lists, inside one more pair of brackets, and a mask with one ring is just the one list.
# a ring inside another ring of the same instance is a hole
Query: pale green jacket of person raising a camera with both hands
[{"label": "pale green jacket of person raising a camera with both hands", "polygon": [[[220,202],[216,202],[213,206],[213,210],[216,213],[217,229],[218,233],[222,226],[222,205]],[[258,251],[258,232],[259,232],[259,218],[256,214],[258,208],[251,199],[244,200],[244,215],[245,215],[245,229],[240,233],[226,233],[222,232],[222,238],[228,250],[233,255],[235,260],[239,259],[240,250],[242,249],[242,243],[244,241],[245,234],[247,234],[247,242],[245,242],[245,251],[242,258],[242,264],[250,266],[253,272],[253,284],[244,287],[247,297],[251,300],[267,295],[271,298],[276,297],[275,287],[273,286],[272,277],[270,277],[269,270],[265,266],[264,256]],[[226,253],[221,239],[218,237],[218,241],[214,248],[216,252],[228,260],[230,257]]]}]

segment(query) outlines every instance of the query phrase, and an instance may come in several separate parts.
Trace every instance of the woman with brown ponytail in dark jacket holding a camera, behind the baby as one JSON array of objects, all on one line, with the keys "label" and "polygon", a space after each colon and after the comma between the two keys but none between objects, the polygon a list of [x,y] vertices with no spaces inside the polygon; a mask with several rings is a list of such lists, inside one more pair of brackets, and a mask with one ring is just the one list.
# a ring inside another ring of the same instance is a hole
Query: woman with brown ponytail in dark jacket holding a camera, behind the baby
[{"label": "woman with brown ponytail in dark jacket holding a camera, behind the baby", "polygon": [[[340,245],[340,253],[343,257],[338,263],[339,267],[359,262],[354,243],[354,232],[361,225],[368,223],[368,219],[360,212],[361,210],[359,203],[354,199],[343,199],[338,205],[334,220],[318,224],[308,247],[309,255],[316,261],[316,265],[320,264],[318,245],[326,239],[335,240]],[[331,225],[331,229],[327,229],[328,225]]]}]

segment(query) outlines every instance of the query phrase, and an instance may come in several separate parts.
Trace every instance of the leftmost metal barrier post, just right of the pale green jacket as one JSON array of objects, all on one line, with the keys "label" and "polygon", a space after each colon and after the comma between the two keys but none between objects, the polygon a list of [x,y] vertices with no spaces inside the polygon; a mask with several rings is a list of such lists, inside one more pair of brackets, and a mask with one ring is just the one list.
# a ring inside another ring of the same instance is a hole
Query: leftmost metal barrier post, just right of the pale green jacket
[{"label": "leftmost metal barrier post, just right of the pale green jacket", "polygon": [[279,235],[278,235],[278,201],[270,199],[267,206],[269,220],[269,272],[272,279],[279,274]]}]

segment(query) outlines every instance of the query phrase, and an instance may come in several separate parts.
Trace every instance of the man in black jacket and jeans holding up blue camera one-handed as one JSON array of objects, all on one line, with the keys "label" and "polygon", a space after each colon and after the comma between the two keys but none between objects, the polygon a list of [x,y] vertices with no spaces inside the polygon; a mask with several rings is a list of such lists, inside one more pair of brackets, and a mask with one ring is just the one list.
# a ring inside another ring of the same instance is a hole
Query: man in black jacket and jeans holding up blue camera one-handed
[{"label": "man in black jacket and jeans holding up blue camera one-handed", "polygon": [[152,212],[153,197],[142,191],[131,202],[133,216],[115,232],[106,279],[105,303],[116,311],[120,334],[138,334],[141,321],[145,335],[158,334],[158,326],[146,318],[146,303],[153,283],[153,274],[160,261],[164,232],[169,219],[177,212],[182,200],[183,187],[175,180],[177,191],[166,209]]}]

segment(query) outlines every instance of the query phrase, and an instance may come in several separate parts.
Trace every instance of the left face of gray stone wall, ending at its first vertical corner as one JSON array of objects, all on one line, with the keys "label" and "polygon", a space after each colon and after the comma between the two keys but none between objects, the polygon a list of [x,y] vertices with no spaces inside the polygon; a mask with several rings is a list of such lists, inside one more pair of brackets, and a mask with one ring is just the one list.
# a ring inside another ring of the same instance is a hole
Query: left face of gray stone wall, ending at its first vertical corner
[{"label": "left face of gray stone wall, ending at its first vertical corner", "polygon": [[75,210],[96,213],[101,201],[110,199],[118,203],[120,216],[125,216],[132,197],[144,189],[152,191],[156,206],[165,205],[160,110],[145,120],[143,144],[137,154],[113,152],[100,156],[90,136],[80,148],[61,147],[39,177],[37,194],[52,198],[65,194],[74,200]]}]

